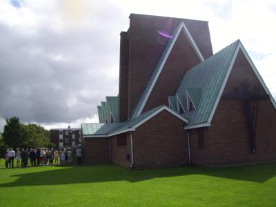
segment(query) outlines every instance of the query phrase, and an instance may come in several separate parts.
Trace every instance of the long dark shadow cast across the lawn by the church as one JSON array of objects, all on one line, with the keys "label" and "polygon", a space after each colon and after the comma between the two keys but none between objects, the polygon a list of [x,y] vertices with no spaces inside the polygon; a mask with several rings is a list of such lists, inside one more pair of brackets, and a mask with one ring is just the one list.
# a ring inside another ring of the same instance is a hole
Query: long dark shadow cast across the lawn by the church
[{"label": "long dark shadow cast across the lawn by the church", "polygon": [[128,170],[112,164],[70,166],[62,168],[48,166],[46,168],[48,168],[47,171],[11,175],[11,177],[19,177],[19,179],[10,183],[0,184],[0,188],[15,186],[86,184],[106,181],[137,182],[153,178],[188,175],[207,175],[262,183],[276,175],[276,163],[227,168],[183,166],[152,170]]}]

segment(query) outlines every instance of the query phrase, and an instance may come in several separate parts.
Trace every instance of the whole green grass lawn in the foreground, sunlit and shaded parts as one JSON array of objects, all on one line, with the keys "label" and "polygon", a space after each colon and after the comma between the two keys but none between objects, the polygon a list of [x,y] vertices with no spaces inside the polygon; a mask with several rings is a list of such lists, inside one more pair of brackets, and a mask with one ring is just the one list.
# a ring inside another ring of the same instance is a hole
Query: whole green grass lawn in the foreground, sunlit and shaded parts
[{"label": "whole green grass lawn in the foreground, sunlit and shaded parts", "polygon": [[154,170],[3,164],[0,206],[276,206],[276,163]]}]

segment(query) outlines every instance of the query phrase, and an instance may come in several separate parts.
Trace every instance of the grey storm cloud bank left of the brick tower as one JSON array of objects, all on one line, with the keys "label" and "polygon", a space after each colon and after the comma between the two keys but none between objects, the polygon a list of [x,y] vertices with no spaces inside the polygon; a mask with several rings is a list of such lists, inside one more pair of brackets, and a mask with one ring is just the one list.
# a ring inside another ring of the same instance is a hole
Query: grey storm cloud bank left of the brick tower
[{"label": "grey storm cloud bank left of the brick tower", "polygon": [[57,32],[43,25],[30,34],[0,22],[0,117],[76,121],[117,95],[119,30],[109,15],[93,26]]}]

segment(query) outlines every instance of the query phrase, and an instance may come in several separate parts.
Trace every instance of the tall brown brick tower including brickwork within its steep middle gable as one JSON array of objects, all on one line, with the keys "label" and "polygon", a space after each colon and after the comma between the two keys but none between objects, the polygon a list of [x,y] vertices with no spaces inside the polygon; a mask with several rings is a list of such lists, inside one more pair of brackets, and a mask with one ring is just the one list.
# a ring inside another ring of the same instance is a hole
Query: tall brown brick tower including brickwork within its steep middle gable
[{"label": "tall brown brick tower including brickwork within its steep middle gable", "polygon": [[[127,32],[121,32],[118,106],[120,122],[131,117],[132,111],[164,52],[168,37],[162,36],[160,31],[172,34],[172,31],[183,21],[204,59],[213,55],[208,21],[144,14],[130,14],[129,18],[130,28]],[[168,57],[162,70],[163,74],[161,73],[159,82],[153,88],[155,92],[152,94],[156,97],[149,97],[144,111],[162,103],[168,104],[168,95],[174,94],[184,72],[200,62],[184,34],[179,34],[172,52],[174,55]],[[162,81],[162,76],[168,75],[172,75],[172,81]]]}]

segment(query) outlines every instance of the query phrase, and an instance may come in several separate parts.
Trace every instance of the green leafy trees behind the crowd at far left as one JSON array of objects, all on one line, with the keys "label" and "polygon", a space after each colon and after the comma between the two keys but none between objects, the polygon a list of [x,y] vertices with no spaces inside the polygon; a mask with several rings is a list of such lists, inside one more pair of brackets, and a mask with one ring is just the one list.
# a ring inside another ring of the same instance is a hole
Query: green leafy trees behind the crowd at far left
[{"label": "green leafy trees behind the crowd at far left", "polygon": [[50,131],[37,124],[23,124],[19,117],[6,119],[0,137],[0,154],[5,155],[7,148],[54,148],[50,142]]}]

